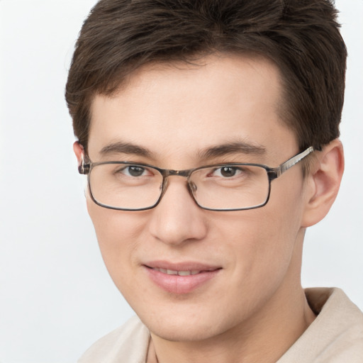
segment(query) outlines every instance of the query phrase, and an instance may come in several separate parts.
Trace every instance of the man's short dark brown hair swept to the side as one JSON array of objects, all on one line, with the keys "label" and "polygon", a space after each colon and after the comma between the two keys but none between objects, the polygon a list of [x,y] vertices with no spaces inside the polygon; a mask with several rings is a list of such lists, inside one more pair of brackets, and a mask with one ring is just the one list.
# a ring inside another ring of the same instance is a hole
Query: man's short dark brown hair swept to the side
[{"label": "man's short dark brown hair swept to the side", "polygon": [[84,22],[66,86],[87,146],[95,94],[111,95],[150,62],[257,53],[279,67],[283,121],[301,150],[339,136],[347,51],[329,0],[101,0]]}]

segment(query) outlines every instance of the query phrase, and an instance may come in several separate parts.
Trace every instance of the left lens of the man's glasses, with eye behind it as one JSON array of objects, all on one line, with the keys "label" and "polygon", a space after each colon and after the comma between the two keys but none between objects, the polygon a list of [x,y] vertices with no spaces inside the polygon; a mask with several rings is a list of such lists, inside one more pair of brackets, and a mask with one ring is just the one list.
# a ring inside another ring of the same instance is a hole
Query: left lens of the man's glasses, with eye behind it
[{"label": "left lens of the man's glasses, with eye behind it", "polygon": [[89,174],[89,189],[102,206],[116,209],[143,209],[160,197],[162,175],[157,169],[138,164],[99,164]]}]

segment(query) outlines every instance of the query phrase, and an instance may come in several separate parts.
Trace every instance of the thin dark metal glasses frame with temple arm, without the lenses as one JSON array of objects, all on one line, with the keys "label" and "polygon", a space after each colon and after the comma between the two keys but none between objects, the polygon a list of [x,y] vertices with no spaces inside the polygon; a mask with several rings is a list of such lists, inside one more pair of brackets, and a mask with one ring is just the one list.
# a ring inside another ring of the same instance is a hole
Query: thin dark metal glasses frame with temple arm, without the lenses
[{"label": "thin dark metal glasses frame with temple arm, without the lenses", "polygon": [[[281,177],[281,175],[284,174],[284,172],[289,170],[291,167],[294,167],[294,165],[297,164],[298,162],[301,162],[301,160],[303,160],[305,157],[307,157],[313,151],[314,151],[314,148],[312,146],[308,147],[303,152],[299,152],[298,154],[294,155],[293,157],[290,157],[288,160],[286,160],[286,162],[283,162],[282,164],[279,164],[278,167],[268,167],[267,165],[264,165],[264,164],[254,164],[254,163],[249,163],[249,162],[230,162],[230,163],[204,165],[203,167],[196,167],[196,168],[184,169],[184,170],[161,169],[160,167],[155,167],[154,165],[143,164],[143,163],[135,163],[135,162],[113,162],[113,161],[111,161],[111,162],[91,162],[89,157],[82,154],[82,161],[81,161],[81,164],[78,167],[78,172],[79,172],[79,174],[87,175],[87,186],[88,186],[89,194],[91,196],[92,201],[94,201],[94,203],[96,203],[98,206],[108,208],[108,209],[113,209],[113,210],[116,210],[116,211],[147,211],[148,209],[155,208],[160,203],[160,201],[162,199],[162,196],[164,196],[165,191],[167,190],[167,184],[168,184],[167,178],[172,176],[172,175],[177,175],[179,177],[185,177],[186,178],[189,194],[191,195],[191,197],[193,198],[193,200],[195,201],[197,206],[199,206],[202,209],[205,209],[206,211],[247,211],[249,209],[256,209],[256,208],[261,208],[261,207],[265,206],[268,203],[269,196],[271,194],[271,182],[274,179],[277,179],[277,178]],[[148,207],[145,207],[145,208],[137,208],[137,209],[113,207],[113,206],[108,206],[107,204],[100,203],[99,201],[96,201],[96,199],[94,199],[94,196],[92,194],[91,182],[90,182],[90,177],[89,176],[91,174],[91,170],[94,167],[96,167],[97,165],[102,165],[102,164],[126,164],[126,165],[130,164],[130,165],[133,165],[133,166],[136,166],[136,167],[149,167],[149,168],[157,170],[157,172],[160,172],[160,174],[162,175],[162,188],[161,188],[159,198],[157,199],[157,201],[152,206],[148,206]],[[268,190],[266,201],[264,201],[264,203],[261,203],[261,204],[259,204],[257,206],[245,207],[245,208],[228,208],[228,209],[220,209],[219,208],[218,209],[218,208],[206,208],[204,206],[201,206],[198,203],[198,201],[196,201],[196,199],[194,197],[194,194],[193,194],[193,191],[192,191],[193,186],[191,185],[191,182],[189,181],[189,177],[191,176],[191,174],[193,172],[195,172],[196,170],[204,169],[204,168],[208,168],[208,167],[223,167],[223,166],[225,166],[225,167],[234,167],[236,165],[262,167],[263,169],[266,170],[268,181],[269,181],[269,190]]]}]

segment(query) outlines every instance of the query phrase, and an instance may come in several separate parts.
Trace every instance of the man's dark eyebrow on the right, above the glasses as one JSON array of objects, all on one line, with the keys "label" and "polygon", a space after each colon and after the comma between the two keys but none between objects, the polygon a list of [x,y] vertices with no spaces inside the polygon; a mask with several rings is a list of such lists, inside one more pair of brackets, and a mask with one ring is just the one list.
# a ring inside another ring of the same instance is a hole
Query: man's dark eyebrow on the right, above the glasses
[{"label": "man's dark eyebrow on the right, above the glasses", "polygon": [[266,148],[262,145],[253,145],[243,141],[235,141],[233,143],[207,147],[199,152],[199,157],[201,157],[201,159],[208,159],[230,154],[264,155],[265,153]]}]

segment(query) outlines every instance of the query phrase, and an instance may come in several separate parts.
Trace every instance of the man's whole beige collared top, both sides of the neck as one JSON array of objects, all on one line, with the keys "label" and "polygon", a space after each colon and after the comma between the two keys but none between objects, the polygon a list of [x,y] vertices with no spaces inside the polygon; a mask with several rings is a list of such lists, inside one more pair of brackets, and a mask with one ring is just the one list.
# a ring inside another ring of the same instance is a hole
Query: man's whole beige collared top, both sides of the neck
[{"label": "man's whole beige collared top, both sides of the neck", "polygon": [[[318,316],[277,363],[363,363],[363,313],[336,288],[306,289]],[[138,317],[94,343],[79,363],[145,363],[150,333]]]}]

